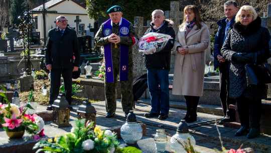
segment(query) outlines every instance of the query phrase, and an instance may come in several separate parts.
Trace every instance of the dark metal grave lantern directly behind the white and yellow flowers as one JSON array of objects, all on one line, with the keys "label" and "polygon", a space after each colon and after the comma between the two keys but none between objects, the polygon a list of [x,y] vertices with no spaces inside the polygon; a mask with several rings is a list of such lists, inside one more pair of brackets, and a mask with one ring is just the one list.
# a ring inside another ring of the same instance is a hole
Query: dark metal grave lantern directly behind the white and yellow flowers
[{"label": "dark metal grave lantern directly behind the white and yellow flowers", "polygon": [[[88,98],[86,98],[85,101],[83,101],[83,104],[79,106],[77,110],[77,116],[78,119],[86,119],[86,122],[94,122],[93,129],[96,126],[96,110],[94,106],[91,105],[91,103],[88,101]],[[86,123],[85,123],[86,124]]]}]

